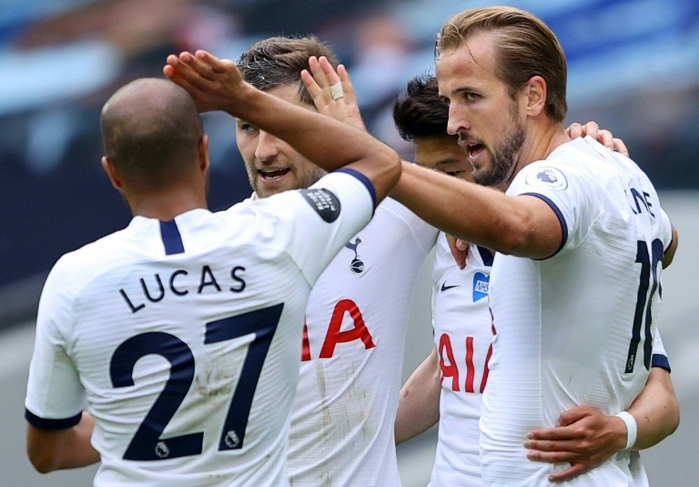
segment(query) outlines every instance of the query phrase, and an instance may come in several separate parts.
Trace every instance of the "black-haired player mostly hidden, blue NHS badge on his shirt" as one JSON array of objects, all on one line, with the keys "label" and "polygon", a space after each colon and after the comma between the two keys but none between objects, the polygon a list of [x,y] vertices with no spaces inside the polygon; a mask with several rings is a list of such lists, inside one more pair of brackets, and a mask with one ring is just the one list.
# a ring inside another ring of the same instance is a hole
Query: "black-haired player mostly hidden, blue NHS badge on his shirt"
[{"label": "black-haired player mostly hidden, blue NHS badge on his shirt", "polygon": [[[456,136],[447,134],[448,112],[436,78],[424,76],[408,82],[405,95],[395,103],[394,120],[401,137],[415,146],[416,163],[468,181],[468,154],[461,150]],[[577,129],[594,129],[594,124],[574,125],[568,131],[577,136]],[[598,136],[601,140],[611,138],[602,131]],[[470,245],[466,267],[459,268],[445,235],[441,233],[438,238],[432,274],[435,348],[403,386],[396,417],[397,442],[439,422],[433,486],[482,485],[478,420],[492,351],[488,307],[492,261],[488,249]],[[643,429],[639,436],[651,435],[654,444],[672,433],[679,421],[659,333],[653,342],[652,363],[644,391],[628,410]],[[626,445],[624,424],[598,409],[575,407],[561,415],[559,424],[561,427],[550,431],[530,432],[534,439],[528,439],[526,445],[542,449],[531,452],[540,460],[571,463],[569,469],[554,474],[556,480],[574,477]],[[537,438],[557,441],[538,442]]]}]

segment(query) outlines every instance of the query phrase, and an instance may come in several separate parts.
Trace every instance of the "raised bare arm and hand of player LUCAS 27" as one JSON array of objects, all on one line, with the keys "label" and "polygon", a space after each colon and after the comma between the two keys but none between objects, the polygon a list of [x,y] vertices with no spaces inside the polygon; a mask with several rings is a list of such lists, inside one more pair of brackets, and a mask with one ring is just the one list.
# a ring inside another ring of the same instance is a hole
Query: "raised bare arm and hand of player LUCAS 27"
[{"label": "raised bare arm and hand of player LUCAS 27", "polygon": [[373,183],[377,202],[401,174],[398,154],[368,133],[261,92],[243,80],[236,64],[198,50],[171,54],[163,73],[185,88],[201,112],[224,110],[286,140],[317,166],[352,168]]}]

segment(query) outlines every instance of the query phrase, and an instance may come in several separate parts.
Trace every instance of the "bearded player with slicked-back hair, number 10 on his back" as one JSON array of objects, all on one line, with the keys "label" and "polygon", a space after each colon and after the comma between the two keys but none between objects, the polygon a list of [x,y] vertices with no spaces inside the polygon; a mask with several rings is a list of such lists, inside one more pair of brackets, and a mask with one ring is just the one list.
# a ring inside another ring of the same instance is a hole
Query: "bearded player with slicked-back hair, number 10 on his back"
[{"label": "bearded player with slicked-back hair, number 10 on his back", "polygon": [[[523,440],[565,409],[630,407],[649,374],[661,269],[677,245],[635,163],[565,133],[565,71],[558,41],[533,15],[509,7],[454,15],[436,64],[448,131],[468,151],[475,181],[505,184],[507,194],[405,164],[391,193],[498,252],[480,419],[486,485],[542,485],[563,470],[529,461]],[[635,422],[622,416],[633,440]],[[627,485],[629,465],[624,451],[570,482]]]}]

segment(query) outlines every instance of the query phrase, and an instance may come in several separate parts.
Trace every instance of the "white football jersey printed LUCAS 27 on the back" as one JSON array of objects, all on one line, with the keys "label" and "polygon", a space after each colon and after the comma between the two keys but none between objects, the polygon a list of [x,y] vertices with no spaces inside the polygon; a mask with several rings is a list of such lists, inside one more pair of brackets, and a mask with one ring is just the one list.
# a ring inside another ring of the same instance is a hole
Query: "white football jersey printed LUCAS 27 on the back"
[{"label": "white football jersey printed LUCAS 27 on the back", "polygon": [[308,294],[372,215],[373,187],[351,174],[226,212],[134,217],[63,256],[39,306],[28,421],[69,428],[87,400],[96,486],[288,484]]}]

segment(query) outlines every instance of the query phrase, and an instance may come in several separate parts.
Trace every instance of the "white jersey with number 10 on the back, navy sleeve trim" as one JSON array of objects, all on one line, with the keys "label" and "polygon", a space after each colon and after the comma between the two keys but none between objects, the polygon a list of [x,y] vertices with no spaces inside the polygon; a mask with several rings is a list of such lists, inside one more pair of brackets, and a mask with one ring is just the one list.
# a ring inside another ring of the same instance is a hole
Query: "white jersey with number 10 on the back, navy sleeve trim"
[{"label": "white jersey with number 10 on the back, navy sleeve trim", "polygon": [[[549,259],[497,254],[493,263],[482,472],[486,485],[548,485],[565,465],[527,460],[526,432],[554,426],[575,405],[615,414],[636,398],[651,365],[660,262],[672,232],[647,176],[589,137],[523,168],[507,194],[546,201],[563,241]],[[630,482],[625,451],[568,484]]]}]

